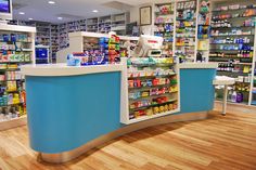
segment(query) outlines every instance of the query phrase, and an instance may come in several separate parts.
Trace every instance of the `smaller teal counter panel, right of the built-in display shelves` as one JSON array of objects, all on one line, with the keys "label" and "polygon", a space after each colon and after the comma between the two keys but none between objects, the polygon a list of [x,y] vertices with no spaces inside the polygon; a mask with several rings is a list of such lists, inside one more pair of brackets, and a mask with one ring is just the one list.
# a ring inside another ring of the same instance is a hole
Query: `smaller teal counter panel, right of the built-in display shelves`
[{"label": "smaller teal counter panel, right of the built-in display shelves", "polygon": [[180,113],[212,110],[215,89],[213,80],[216,69],[180,70]]}]

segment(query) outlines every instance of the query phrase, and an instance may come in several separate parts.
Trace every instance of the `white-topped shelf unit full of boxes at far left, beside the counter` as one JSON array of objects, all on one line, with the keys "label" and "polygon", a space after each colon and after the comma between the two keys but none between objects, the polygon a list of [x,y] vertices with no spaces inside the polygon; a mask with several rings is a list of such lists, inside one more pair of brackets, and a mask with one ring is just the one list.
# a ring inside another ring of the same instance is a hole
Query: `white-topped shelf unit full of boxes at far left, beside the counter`
[{"label": "white-topped shelf unit full of boxes at far left, beside the counter", "polygon": [[35,27],[0,27],[0,129],[26,122],[25,81],[20,66],[35,64]]}]

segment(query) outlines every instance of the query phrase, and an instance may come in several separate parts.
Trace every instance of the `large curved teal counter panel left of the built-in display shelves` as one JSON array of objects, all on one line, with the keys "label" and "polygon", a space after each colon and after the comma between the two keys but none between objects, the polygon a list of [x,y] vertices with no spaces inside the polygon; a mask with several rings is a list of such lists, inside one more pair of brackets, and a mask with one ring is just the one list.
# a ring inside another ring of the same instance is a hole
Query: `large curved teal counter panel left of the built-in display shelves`
[{"label": "large curved teal counter panel left of the built-in display shelves", "polygon": [[30,145],[71,151],[119,128],[120,73],[26,77]]}]

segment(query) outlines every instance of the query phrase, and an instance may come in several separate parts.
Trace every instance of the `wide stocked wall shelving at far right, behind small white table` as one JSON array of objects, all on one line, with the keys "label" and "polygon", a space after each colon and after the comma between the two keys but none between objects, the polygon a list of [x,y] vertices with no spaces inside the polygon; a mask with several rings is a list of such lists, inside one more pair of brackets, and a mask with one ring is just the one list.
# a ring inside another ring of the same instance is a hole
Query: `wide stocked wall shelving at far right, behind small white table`
[{"label": "wide stocked wall shelving at far right, behind small white table", "polygon": [[[218,75],[236,79],[228,101],[251,105],[254,101],[256,2],[213,3],[209,61],[218,62]],[[222,94],[217,90],[217,97]]]}]

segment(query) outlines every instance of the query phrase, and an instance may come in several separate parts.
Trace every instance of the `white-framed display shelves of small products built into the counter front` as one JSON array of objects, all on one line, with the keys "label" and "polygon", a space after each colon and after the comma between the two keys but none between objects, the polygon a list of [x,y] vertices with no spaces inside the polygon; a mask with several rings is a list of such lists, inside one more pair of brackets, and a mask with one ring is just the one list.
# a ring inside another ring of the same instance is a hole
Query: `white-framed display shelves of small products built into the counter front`
[{"label": "white-framed display shelves of small products built into the counter front", "polygon": [[[153,62],[152,62],[153,61]],[[174,60],[163,57],[123,58],[121,122],[129,125],[180,110],[179,69]],[[127,64],[129,63],[129,64]]]}]

